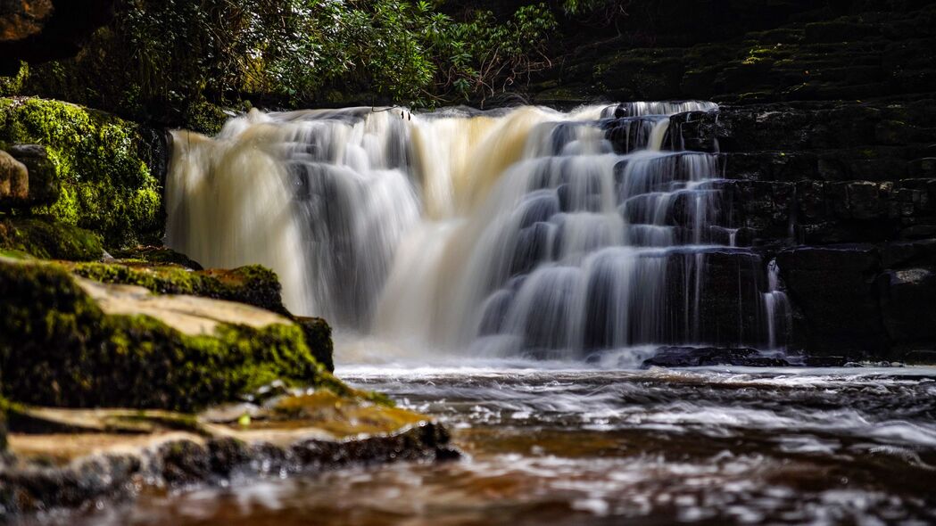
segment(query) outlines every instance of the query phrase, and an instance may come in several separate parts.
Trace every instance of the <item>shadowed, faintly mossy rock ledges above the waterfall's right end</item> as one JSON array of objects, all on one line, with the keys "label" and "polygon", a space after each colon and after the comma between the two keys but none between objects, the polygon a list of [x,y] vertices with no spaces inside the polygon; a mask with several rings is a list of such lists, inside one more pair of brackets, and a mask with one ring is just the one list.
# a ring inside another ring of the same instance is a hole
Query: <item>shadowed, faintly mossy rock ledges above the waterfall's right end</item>
[{"label": "shadowed, faintly mossy rock ledges above the waterfall's right end", "polygon": [[561,66],[534,79],[534,98],[854,100],[936,84],[932,2],[650,0],[626,10],[613,23],[566,21]]}]

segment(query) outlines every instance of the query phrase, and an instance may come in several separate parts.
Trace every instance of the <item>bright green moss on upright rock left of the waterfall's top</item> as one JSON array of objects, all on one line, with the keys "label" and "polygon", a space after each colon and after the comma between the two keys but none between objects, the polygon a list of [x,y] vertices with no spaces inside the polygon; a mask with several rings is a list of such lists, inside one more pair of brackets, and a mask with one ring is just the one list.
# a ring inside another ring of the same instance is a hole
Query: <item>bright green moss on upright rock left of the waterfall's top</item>
[{"label": "bright green moss on upright rock left of the waterfall's top", "polygon": [[107,246],[158,239],[159,182],[137,124],[59,101],[0,99],[0,141],[48,148],[61,195],[36,212],[93,230]]}]

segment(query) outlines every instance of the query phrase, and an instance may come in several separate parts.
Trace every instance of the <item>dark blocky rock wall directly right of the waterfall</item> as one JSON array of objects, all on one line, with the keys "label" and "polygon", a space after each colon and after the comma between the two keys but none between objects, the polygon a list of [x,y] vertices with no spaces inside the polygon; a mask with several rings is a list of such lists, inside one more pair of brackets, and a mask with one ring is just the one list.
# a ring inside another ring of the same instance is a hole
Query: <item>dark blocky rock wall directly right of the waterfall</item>
[{"label": "dark blocky rock wall directly right of the waterfall", "polygon": [[[672,119],[674,149],[720,153],[718,223],[738,229],[738,246],[776,256],[794,348],[902,358],[936,347],[934,117],[936,101],[923,98],[724,105]],[[712,297],[739,296],[717,281]],[[725,322],[733,312],[712,307]]]}]

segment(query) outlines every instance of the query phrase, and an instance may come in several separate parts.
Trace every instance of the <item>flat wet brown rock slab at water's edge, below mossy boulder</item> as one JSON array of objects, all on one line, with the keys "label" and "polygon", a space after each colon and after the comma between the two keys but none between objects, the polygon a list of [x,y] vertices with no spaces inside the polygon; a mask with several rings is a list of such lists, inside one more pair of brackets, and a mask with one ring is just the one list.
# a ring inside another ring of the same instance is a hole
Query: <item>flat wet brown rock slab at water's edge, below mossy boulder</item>
[{"label": "flat wet brown rock slab at water's edge, below mossy boulder", "polygon": [[240,417],[230,421],[219,412],[62,410],[8,402],[6,410],[12,429],[0,463],[0,518],[6,519],[133,498],[147,485],[190,487],[234,474],[313,474],[355,463],[459,456],[448,446],[446,429],[427,416],[324,388],[234,412]]}]

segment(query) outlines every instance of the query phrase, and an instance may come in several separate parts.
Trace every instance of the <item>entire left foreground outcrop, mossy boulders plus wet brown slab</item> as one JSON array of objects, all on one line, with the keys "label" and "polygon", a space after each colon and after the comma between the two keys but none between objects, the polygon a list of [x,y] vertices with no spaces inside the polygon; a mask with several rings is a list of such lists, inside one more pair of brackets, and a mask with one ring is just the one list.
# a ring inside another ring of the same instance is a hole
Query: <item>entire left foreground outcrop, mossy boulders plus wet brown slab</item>
[{"label": "entire left foreground outcrop, mossy boulders plus wet brown slab", "polygon": [[270,270],[120,256],[0,251],[0,519],[147,486],[458,457],[426,416],[331,376],[328,325],[289,314]]}]

